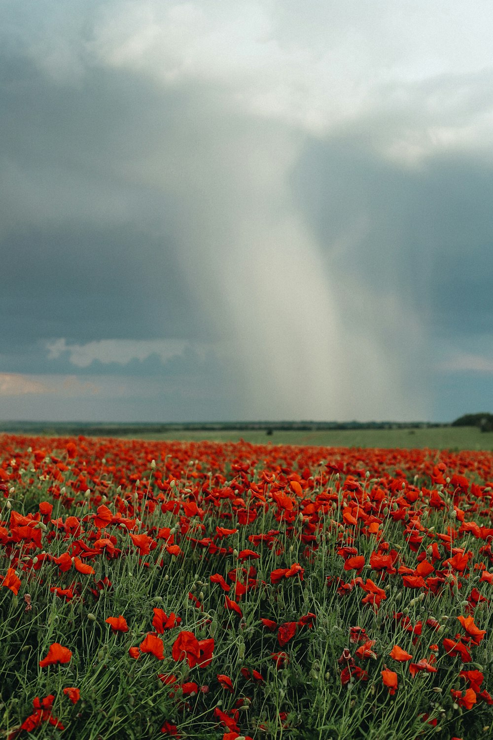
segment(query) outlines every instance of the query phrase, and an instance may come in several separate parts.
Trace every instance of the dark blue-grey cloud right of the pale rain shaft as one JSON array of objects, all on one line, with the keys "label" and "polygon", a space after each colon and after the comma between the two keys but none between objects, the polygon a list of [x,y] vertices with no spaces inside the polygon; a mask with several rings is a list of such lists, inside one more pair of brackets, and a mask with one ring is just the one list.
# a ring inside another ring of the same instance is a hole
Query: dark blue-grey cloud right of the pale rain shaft
[{"label": "dark blue-grey cloud right of the pale rain shaft", "polygon": [[409,168],[345,138],[311,141],[292,181],[329,269],[398,296],[430,342],[492,330],[493,166],[449,155]]}]

